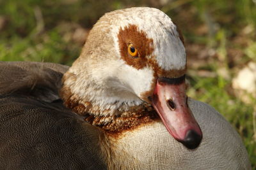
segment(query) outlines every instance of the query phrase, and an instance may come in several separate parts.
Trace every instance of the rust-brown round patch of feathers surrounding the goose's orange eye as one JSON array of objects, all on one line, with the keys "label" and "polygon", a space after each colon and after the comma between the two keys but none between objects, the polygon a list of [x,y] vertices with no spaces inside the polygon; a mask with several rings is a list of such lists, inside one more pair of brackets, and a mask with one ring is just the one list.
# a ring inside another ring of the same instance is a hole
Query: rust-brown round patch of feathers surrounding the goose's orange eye
[{"label": "rust-brown round patch of feathers surrounding the goose's orange eye", "polygon": [[[132,67],[136,69],[142,69],[147,66],[147,58],[152,54],[153,39],[147,38],[145,32],[138,31],[136,25],[128,25],[124,29],[120,28],[118,33],[119,48],[122,59]],[[129,52],[129,45],[137,50],[136,57],[132,56],[133,48]]]}]

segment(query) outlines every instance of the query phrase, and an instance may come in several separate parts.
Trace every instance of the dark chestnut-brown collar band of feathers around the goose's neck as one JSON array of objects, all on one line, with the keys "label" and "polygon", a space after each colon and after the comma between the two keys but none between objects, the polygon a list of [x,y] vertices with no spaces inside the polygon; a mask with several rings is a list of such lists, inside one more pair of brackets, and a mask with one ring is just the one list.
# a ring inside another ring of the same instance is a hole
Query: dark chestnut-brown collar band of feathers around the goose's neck
[{"label": "dark chestnut-brown collar band of feathers around the goose's neck", "polygon": [[72,109],[72,111],[79,115],[83,115],[85,122],[100,127],[113,138],[119,138],[126,131],[132,131],[133,129],[150,124],[156,120],[160,121],[154,108],[147,103],[131,107],[129,111],[119,111],[118,116],[112,115],[105,117],[95,115],[95,113],[108,113],[109,110],[100,111],[99,107],[92,106],[89,102],[81,104],[81,102],[71,94],[70,89],[63,87],[60,94],[67,108]]}]

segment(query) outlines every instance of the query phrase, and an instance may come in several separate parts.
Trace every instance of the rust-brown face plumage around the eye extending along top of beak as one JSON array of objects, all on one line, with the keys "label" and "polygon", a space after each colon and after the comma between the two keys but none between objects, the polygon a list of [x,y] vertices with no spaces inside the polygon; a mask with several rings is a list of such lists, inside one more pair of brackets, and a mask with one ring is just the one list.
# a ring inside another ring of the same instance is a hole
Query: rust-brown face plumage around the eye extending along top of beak
[{"label": "rust-brown face plumage around the eye extending along top of beak", "polygon": [[[179,38],[184,43],[184,39],[179,29]],[[122,59],[136,69],[142,69],[145,66],[150,66],[154,69],[155,76],[178,77],[186,72],[186,68],[182,70],[163,70],[158,66],[157,61],[152,53],[154,51],[153,39],[148,38],[144,31],[139,31],[136,25],[128,25],[124,29],[120,28],[118,33],[118,42]],[[131,57],[128,53],[128,45],[132,43],[138,50],[138,57]],[[150,59],[147,58],[150,56]]]}]

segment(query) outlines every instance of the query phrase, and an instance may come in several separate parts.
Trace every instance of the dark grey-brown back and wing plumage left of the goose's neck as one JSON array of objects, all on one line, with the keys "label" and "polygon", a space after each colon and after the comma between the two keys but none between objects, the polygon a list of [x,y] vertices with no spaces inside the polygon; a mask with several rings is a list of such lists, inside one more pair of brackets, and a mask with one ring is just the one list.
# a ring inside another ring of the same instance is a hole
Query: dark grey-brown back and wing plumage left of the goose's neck
[{"label": "dark grey-brown back and wing plumage left of the goose's neck", "polygon": [[106,169],[99,129],[58,100],[67,69],[0,62],[0,169]]}]

